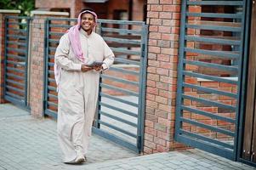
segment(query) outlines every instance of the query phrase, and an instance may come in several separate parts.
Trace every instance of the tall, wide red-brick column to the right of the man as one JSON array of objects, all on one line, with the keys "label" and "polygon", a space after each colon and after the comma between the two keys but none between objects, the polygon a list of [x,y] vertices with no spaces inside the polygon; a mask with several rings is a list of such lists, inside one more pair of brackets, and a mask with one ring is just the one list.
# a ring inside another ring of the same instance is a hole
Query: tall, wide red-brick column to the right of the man
[{"label": "tall, wide red-brick column to the right of the man", "polygon": [[180,0],[148,0],[144,153],[184,148],[174,142]]}]

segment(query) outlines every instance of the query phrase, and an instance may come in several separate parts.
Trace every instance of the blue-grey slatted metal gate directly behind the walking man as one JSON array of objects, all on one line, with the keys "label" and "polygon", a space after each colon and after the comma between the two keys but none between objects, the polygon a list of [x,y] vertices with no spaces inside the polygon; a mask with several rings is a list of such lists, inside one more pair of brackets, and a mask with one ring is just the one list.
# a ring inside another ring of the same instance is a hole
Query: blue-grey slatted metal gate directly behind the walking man
[{"label": "blue-grey slatted metal gate directly behind the walking man", "polygon": [[[73,19],[46,20],[45,114],[57,117],[54,51]],[[98,20],[96,31],[116,55],[115,64],[100,75],[94,133],[140,152],[145,110],[147,26],[140,21]]]}]

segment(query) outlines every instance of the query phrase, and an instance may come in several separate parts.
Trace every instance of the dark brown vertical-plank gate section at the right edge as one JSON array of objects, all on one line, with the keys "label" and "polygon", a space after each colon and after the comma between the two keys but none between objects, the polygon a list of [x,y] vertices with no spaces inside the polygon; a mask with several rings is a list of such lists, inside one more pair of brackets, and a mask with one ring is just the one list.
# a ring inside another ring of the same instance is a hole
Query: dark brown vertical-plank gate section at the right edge
[{"label": "dark brown vertical-plank gate section at the right edge", "polygon": [[[247,65],[247,92],[245,95],[244,125],[242,129],[242,147],[241,161],[256,167],[256,5],[248,3],[251,10],[248,11],[251,17],[248,17],[250,28],[248,28],[248,37],[250,37],[248,47],[248,65]],[[249,34],[250,32],[250,34]]]}]

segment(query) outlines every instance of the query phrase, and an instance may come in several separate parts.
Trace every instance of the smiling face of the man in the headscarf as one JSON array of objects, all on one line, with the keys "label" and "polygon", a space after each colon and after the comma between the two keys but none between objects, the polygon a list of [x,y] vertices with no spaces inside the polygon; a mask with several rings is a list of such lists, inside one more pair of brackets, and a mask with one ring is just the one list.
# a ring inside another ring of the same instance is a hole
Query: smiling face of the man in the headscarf
[{"label": "smiling face of the man in the headscarf", "polygon": [[82,14],[81,26],[82,26],[82,30],[87,31],[88,33],[93,31],[95,26],[94,15],[89,13]]}]

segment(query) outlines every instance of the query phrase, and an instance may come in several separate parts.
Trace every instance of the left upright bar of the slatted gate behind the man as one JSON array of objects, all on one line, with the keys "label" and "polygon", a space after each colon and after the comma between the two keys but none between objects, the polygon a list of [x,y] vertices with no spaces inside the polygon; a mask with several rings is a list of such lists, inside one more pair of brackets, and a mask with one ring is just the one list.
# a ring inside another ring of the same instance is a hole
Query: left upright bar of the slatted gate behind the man
[{"label": "left upright bar of the slatted gate behind the man", "polygon": [[49,31],[49,20],[46,19],[44,21],[44,83],[43,83],[43,115],[45,115],[45,110],[48,109],[47,107],[47,100],[48,100],[48,33]]}]

